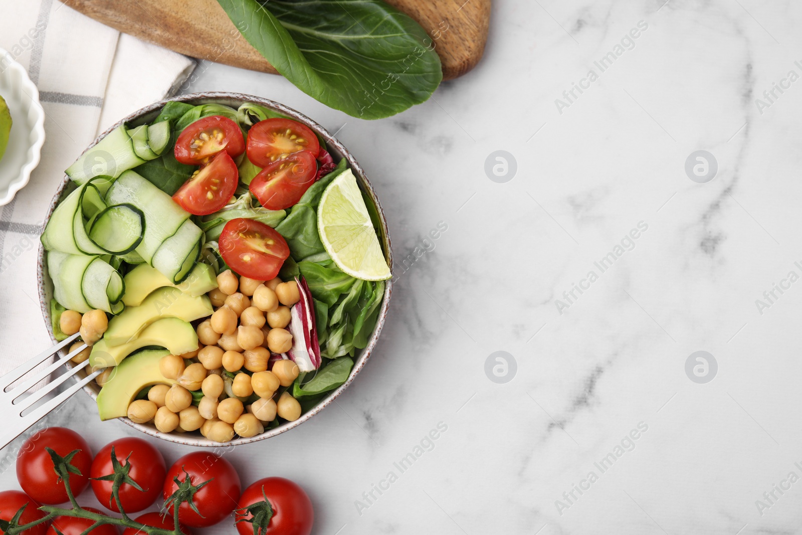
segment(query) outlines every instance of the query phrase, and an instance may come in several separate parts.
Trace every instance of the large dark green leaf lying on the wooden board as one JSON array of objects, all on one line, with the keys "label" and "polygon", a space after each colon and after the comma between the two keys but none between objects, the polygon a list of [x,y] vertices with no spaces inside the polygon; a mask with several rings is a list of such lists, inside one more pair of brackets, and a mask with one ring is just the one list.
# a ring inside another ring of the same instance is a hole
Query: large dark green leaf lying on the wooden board
[{"label": "large dark green leaf lying on the wooden board", "polygon": [[426,31],[381,0],[217,2],[286,79],[351,116],[393,116],[443,79]]}]

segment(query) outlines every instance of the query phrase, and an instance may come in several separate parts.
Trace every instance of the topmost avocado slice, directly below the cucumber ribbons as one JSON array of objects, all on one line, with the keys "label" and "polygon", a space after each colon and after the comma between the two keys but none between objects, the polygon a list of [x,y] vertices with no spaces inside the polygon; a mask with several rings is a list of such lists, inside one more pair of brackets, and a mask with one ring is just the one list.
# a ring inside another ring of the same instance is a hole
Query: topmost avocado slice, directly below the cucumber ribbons
[{"label": "topmost avocado slice, directly below the cucumber ribbons", "polygon": [[184,282],[176,285],[155,267],[140,264],[125,275],[123,302],[125,306],[140,306],[154,290],[167,286],[178,288],[192,297],[198,297],[217,288],[217,275],[211,265],[198,263]]}]

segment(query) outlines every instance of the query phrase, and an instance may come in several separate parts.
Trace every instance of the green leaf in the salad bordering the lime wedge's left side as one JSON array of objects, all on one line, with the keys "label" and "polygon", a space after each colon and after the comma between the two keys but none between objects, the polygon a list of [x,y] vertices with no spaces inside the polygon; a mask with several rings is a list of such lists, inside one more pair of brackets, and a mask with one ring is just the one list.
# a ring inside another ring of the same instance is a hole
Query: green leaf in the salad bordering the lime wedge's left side
[{"label": "green leaf in the salad bordering the lime wedge's left side", "polygon": [[286,219],[276,227],[278,233],[286,239],[287,245],[290,245],[290,253],[295,260],[300,261],[313,254],[326,253],[318,234],[318,205],[326,186],[346,168],[347,162],[343,158],[334,171],[323,176],[306,190]]}]

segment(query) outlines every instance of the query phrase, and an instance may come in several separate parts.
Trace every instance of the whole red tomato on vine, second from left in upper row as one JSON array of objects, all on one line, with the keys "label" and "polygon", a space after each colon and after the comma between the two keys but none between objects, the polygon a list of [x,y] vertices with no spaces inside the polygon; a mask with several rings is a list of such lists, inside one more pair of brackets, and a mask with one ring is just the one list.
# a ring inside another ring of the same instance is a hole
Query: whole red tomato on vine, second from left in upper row
[{"label": "whole red tomato on vine, second from left in upper row", "polygon": [[[167,465],[159,450],[145,440],[129,437],[115,440],[103,446],[95,460],[92,462],[90,475],[92,478],[107,476],[114,473],[111,465],[111,447],[114,447],[115,456],[119,464],[130,464],[128,476],[140,485],[137,490],[128,483],[119,487],[119,501],[126,513],[136,513],[152,505],[159,497],[164,484],[164,474]],[[130,457],[128,457],[130,455]],[[128,458],[128,461],[126,459]],[[91,481],[92,491],[103,507],[119,513],[117,503],[111,497],[111,481]],[[144,491],[144,492],[143,492]]]}]

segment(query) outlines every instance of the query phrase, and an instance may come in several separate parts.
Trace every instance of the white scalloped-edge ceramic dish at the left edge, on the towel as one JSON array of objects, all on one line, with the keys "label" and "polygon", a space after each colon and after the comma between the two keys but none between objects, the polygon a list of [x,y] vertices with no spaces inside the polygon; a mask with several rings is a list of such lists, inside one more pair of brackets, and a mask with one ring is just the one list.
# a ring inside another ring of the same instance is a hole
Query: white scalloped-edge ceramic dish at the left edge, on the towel
[{"label": "white scalloped-edge ceramic dish at the left edge, on the towel", "polygon": [[45,141],[45,112],[39,91],[22,65],[0,48],[0,96],[11,112],[11,134],[0,159],[0,206],[7,205],[30,180]]}]

